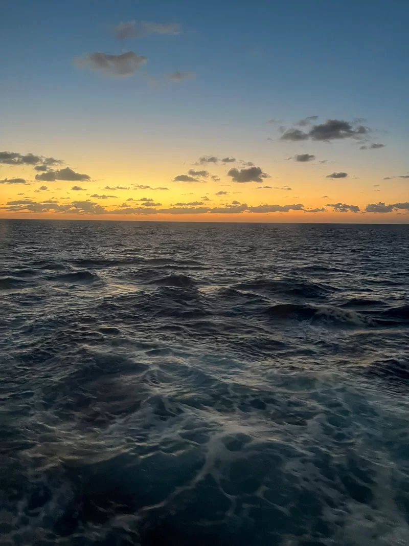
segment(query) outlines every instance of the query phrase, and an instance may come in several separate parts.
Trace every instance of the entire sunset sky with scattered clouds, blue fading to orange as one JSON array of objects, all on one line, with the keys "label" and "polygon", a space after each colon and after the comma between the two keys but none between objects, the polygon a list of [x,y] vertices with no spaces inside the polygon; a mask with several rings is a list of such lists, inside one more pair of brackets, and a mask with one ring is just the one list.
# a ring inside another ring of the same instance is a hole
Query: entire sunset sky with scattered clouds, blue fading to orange
[{"label": "entire sunset sky with scattered clouds, blue fading to orange", "polygon": [[409,223],[407,0],[1,0],[0,218]]}]

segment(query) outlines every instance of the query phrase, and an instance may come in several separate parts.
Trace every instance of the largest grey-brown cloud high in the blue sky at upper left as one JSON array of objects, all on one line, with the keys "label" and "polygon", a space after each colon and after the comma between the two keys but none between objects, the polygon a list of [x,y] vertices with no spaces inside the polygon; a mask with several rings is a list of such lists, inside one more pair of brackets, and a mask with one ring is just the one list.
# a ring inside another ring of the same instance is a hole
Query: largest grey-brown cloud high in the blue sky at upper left
[{"label": "largest grey-brown cloud high in the blue sky at upper left", "polygon": [[122,78],[135,74],[148,61],[147,57],[136,55],[134,51],[126,51],[121,55],[109,55],[95,52],[74,60],[78,68],[99,70],[107,76]]}]

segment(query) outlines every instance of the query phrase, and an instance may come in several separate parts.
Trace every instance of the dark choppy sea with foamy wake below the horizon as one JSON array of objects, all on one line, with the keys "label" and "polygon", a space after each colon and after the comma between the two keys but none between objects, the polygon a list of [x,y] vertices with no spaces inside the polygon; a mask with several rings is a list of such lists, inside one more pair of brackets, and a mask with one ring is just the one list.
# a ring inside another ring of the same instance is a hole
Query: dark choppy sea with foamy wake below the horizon
[{"label": "dark choppy sea with foamy wake below the horizon", "polygon": [[409,543],[409,226],[0,241],[2,545]]}]

